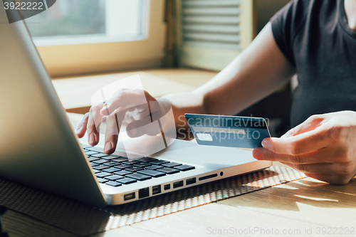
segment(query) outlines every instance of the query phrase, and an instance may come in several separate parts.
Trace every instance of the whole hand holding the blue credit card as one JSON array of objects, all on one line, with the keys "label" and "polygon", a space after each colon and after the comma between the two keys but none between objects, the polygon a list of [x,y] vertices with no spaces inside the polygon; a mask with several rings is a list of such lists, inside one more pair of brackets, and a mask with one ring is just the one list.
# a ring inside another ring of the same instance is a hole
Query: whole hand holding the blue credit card
[{"label": "whole hand holding the blue credit card", "polygon": [[313,115],[281,138],[266,138],[253,157],[297,169],[330,184],[347,184],[356,175],[356,112]]}]

